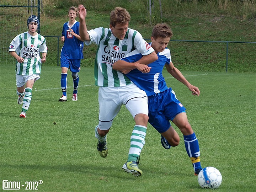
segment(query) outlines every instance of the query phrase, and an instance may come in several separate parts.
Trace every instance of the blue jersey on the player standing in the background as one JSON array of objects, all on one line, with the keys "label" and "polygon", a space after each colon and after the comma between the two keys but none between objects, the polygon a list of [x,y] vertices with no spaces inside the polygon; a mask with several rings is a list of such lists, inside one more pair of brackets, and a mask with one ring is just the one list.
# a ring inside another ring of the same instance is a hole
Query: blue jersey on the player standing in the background
[{"label": "blue jersey on the player standing in the background", "polygon": [[64,23],[62,29],[62,36],[65,37],[64,45],[61,50],[60,57],[67,59],[83,59],[82,49],[84,48],[84,42],[74,37],[67,30],[71,28],[74,33],[79,35],[79,22],[75,21],[72,26],[69,26],[69,21]]}]

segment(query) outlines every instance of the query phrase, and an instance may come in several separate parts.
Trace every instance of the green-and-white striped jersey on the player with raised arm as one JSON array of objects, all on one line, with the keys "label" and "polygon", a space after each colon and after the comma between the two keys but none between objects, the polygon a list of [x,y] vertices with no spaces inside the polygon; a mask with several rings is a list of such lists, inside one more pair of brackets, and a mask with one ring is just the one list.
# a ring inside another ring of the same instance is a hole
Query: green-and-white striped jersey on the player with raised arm
[{"label": "green-and-white striped jersey on the player with raised arm", "polygon": [[94,65],[94,78],[97,86],[121,87],[130,84],[132,81],[126,75],[112,69],[113,63],[135,49],[142,55],[154,52],[142,35],[130,28],[123,40],[116,38],[110,28],[99,27],[88,33],[90,41],[85,41],[85,44],[94,43],[98,46]]}]

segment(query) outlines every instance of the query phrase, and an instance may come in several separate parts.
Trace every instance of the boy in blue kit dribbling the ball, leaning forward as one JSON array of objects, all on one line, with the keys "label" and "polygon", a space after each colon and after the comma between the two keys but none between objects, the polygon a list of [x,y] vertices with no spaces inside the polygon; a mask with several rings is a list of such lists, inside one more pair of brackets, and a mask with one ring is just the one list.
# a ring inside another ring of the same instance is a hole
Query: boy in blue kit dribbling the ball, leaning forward
[{"label": "boy in blue kit dribbling the ball, leaning forward", "polygon": [[171,126],[170,121],[174,122],[181,130],[187,154],[194,168],[194,174],[198,175],[202,170],[198,140],[188,122],[186,108],[178,101],[171,87],[168,88],[166,85],[162,76],[164,66],[174,78],[192,91],[192,95],[199,96],[200,91],[198,87],[191,85],[173,65],[170,49],[167,48],[171,37],[172,31],[165,23],[154,26],[151,35],[151,47],[157,53],[158,60],[148,65],[149,73],[134,69],[134,66],[141,65],[137,61],[142,57],[136,50],[114,63],[113,69],[121,70],[134,84],[146,92],[149,106],[149,123],[161,133],[161,144],[165,149],[177,146],[180,142],[180,137]]}]

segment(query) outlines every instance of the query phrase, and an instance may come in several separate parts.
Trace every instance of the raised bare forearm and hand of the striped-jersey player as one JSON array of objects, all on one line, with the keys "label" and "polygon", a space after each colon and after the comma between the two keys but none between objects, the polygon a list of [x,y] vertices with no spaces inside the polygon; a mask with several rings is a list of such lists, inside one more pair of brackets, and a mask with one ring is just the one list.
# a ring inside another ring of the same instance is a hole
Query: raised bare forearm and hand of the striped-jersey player
[{"label": "raised bare forearm and hand of the striped-jersey player", "polygon": [[87,27],[85,22],[85,17],[87,15],[84,5],[78,6],[78,16],[79,16],[79,34],[80,38],[84,41],[90,41],[90,36],[87,33]]}]

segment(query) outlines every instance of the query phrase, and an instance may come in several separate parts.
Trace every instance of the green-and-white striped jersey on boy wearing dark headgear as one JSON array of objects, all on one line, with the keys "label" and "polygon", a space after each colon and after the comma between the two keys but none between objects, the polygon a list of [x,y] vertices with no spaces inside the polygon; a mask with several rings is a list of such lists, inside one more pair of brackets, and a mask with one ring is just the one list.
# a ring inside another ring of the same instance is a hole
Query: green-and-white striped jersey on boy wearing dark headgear
[{"label": "green-and-white striped jersey on boy wearing dark headgear", "polygon": [[16,60],[16,74],[32,75],[41,73],[41,53],[47,53],[45,38],[37,34],[31,36],[28,32],[17,35],[9,46],[9,52],[15,51],[17,55],[24,59],[23,63]]}]

